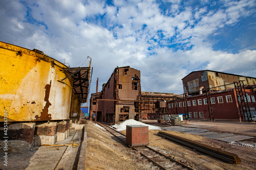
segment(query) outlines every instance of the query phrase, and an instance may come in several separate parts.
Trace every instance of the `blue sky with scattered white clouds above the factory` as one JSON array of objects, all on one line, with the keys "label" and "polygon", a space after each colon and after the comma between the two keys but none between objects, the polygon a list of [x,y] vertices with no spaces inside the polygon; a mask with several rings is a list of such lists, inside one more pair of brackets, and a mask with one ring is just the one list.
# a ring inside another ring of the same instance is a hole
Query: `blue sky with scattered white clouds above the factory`
[{"label": "blue sky with scattered white clouds above the factory", "polygon": [[65,58],[71,67],[90,56],[91,93],[97,77],[101,90],[116,66],[140,70],[142,91],[175,94],[183,93],[181,79],[191,71],[256,77],[255,1],[3,0],[0,6],[0,41]]}]

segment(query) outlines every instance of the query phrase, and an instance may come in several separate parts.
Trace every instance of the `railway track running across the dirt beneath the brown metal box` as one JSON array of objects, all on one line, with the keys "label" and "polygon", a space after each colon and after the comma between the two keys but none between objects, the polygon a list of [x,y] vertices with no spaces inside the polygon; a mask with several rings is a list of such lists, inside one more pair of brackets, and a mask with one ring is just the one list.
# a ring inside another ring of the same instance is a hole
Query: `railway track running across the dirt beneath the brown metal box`
[{"label": "railway track running across the dirt beneath the brown metal box", "polygon": [[[108,132],[110,132],[112,135],[114,135],[115,137],[117,137],[118,139],[121,140],[121,143],[123,145],[126,145],[127,147],[130,147],[127,143],[126,143],[126,136],[121,133],[118,132],[117,130],[102,124],[100,122],[97,122],[100,126],[102,126],[103,128],[105,128]],[[133,150],[139,151],[140,154],[142,156],[144,156],[146,159],[148,159],[150,162],[152,162],[155,166],[159,167],[160,169],[163,170],[171,170],[171,169],[175,169],[175,170],[194,170],[190,167],[188,167],[187,165],[180,163],[172,158],[170,158],[167,155],[164,155],[148,146],[143,146],[143,147],[131,147]]]}]

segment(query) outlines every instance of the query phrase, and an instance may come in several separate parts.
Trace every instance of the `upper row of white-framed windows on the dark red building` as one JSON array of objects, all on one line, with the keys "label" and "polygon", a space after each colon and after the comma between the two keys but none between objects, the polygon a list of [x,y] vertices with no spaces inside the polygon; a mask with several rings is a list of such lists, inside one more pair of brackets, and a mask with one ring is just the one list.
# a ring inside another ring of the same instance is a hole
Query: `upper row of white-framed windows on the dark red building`
[{"label": "upper row of white-framed windows on the dark red building", "polygon": [[[250,96],[248,96],[246,94],[246,97],[247,97],[247,101],[251,102]],[[252,98],[252,102],[255,102],[254,96],[251,96],[251,98]],[[218,103],[223,103],[222,96],[217,97],[217,100],[218,100]],[[203,99],[203,101],[204,101],[204,104],[208,104],[207,99]],[[226,96],[226,101],[227,102],[232,102],[231,95]],[[239,97],[238,97],[238,101],[241,101]],[[198,102],[198,105],[202,105],[202,99],[198,99],[197,102]],[[191,106],[191,101],[188,101],[187,103],[188,103],[188,106]],[[193,106],[196,106],[196,100],[192,100],[192,103],[193,103]],[[214,97],[211,98],[211,104],[215,104],[215,98]],[[186,103],[185,103],[185,106],[187,106]],[[185,106],[184,106],[184,102],[183,102],[183,107],[185,107]],[[171,108],[170,103],[168,104],[168,107]],[[182,107],[182,102],[179,102],[179,105],[178,105],[178,102],[177,103],[172,103],[172,107]]]}]

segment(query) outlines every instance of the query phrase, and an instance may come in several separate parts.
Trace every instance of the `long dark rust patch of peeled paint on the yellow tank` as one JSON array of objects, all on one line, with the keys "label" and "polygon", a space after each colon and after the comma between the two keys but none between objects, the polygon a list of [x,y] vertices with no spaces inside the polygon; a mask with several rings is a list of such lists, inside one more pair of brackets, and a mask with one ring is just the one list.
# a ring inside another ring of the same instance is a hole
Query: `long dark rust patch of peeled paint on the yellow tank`
[{"label": "long dark rust patch of peeled paint on the yellow tank", "polygon": [[38,115],[35,116],[36,119],[41,120],[51,120],[51,114],[48,114],[48,108],[51,106],[51,103],[49,102],[49,95],[50,95],[50,89],[51,89],[51,81],[50,84],[45,85],[45,106],[44,109],[42,109],[40,117]]}]

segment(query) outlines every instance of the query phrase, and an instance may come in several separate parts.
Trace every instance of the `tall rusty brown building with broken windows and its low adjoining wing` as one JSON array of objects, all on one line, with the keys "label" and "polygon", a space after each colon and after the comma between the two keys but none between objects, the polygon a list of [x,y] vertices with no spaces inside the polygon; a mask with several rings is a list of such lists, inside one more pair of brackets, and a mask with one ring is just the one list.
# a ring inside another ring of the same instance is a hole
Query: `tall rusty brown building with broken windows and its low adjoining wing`
[{"label": "tall rusty brown building with broken windows and its low adjoining wing", "polygon": [[168,112],[167,107],[156,107],[156,103],[171,100],[174,94],[141,91],[140,79],[140,71],[130,66],[115,68],[102,91],[91,94],[90,120],[96,110],[96,119],[108,123],[156,119],[159,113]]}]

